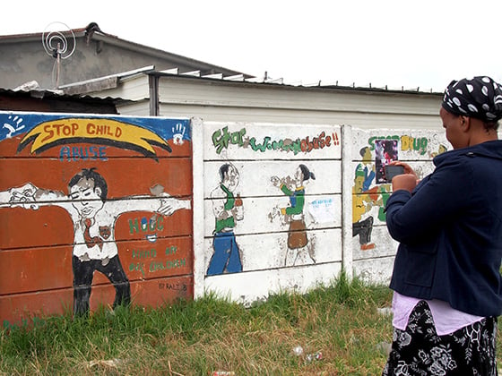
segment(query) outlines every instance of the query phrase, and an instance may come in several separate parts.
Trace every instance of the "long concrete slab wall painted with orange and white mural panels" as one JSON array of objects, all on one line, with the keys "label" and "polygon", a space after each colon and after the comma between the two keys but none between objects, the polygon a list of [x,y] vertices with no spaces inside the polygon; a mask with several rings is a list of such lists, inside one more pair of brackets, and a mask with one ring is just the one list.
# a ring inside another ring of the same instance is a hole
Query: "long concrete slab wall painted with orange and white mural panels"
[{"label": "long concrete slab wall painted with orange and white mural panels", "polygon": [[[397,244],[379,163],[397,158],[423,176],[448,148],[443,132],[340,124],[11,112],[0,123],[9,322],[75,312],[75,257],[98,271],[91,311],[121,291],[110,270],[124,271],[133,303],[152,306],[207,291],[250,304],[342,269],[387,283]],[[74,180],[83,168],[107,182],[106,200],[90,179]]]}]

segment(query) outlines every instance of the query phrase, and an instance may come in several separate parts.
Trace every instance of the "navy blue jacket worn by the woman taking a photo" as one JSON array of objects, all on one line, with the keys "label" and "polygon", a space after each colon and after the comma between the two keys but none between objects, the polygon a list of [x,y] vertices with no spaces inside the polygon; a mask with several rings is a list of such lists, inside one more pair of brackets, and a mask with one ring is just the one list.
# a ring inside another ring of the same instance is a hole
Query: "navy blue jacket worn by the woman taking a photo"
[{"label": "navy blue jacket worn by the woman taking a photo", "polygon": [[390,287],[479,316],[502,313],[502,141],[446,151],[413,192],[386,203],[400,242]]}]

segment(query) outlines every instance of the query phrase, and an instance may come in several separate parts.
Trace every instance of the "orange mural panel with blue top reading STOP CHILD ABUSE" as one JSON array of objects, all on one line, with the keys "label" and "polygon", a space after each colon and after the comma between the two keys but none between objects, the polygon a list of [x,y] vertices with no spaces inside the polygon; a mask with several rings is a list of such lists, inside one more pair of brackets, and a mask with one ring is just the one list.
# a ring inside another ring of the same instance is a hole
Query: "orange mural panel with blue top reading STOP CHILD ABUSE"
[{"label": "orange mural panel with blue top reading STOP CHILD ABUSE", "polygon": [[0,122],[0,320],[193,296],[187,119]]}]

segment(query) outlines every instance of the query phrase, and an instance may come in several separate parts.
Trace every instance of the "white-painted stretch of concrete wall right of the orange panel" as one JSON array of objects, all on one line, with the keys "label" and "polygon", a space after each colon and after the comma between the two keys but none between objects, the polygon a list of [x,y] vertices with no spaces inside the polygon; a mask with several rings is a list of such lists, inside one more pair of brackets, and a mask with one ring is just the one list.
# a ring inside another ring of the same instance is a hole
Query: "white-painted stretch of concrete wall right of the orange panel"
[{"label": "white-painted stretch of concrete wall right of the orange panel", "polygon": [[215,291],[242,303],[327,284],[342,265],[387,281],[397,244],[383,210],[390,184],[377,182],[376,144],[385,142],[376,140],[419,175],[448,145],[426,130],[202,121],[193,140],[194,176],[203,175],[195,297]]}]

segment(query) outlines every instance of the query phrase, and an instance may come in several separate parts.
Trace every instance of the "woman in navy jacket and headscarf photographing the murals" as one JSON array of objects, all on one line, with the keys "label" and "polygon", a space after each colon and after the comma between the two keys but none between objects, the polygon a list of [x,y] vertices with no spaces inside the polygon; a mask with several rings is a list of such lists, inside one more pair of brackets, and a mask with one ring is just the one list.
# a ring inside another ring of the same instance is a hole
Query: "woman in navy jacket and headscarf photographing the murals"
[{"label": "woman in navy jacket and headscarf photographing the murals", "polygon": [[439,115],[453,149],[417,182],[393,179],[386,203],[400,242],[392,351],[384,375],[496,375],[502,312],[502,86],[489,77],[452,81]]}]

